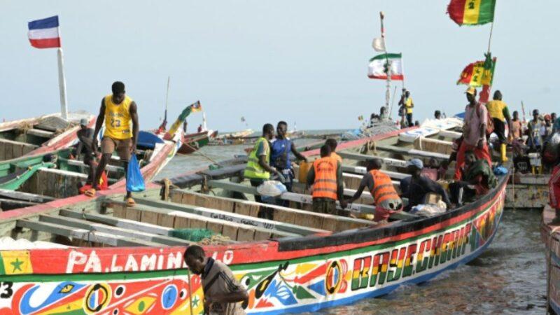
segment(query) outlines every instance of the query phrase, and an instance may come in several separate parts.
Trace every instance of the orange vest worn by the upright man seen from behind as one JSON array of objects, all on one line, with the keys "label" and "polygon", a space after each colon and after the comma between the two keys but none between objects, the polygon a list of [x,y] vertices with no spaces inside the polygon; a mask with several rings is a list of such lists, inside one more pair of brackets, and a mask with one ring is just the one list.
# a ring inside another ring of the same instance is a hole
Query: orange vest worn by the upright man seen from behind
[{"label": "orange vest worn by the upright man seen from behind", "polygon": [[337,160],[331,157],[320,158],[313,162],[313,169],[313,197],[337,200]]}]

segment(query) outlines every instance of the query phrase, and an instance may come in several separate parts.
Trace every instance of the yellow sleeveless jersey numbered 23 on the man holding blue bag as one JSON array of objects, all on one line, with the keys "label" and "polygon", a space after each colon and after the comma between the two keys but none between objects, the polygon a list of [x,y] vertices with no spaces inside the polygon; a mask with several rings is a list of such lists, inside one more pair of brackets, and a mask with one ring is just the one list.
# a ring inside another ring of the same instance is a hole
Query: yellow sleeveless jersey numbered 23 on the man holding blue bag
[{"label": "yellow sleeveless jersey numbered 23 on the man holding blue bag", "polygon": [[120,104],[113,103],[113,95],[105,97],[105,132],[103,137],[116,140],[132,138],[130,104],[132,99],[125,96]]}]

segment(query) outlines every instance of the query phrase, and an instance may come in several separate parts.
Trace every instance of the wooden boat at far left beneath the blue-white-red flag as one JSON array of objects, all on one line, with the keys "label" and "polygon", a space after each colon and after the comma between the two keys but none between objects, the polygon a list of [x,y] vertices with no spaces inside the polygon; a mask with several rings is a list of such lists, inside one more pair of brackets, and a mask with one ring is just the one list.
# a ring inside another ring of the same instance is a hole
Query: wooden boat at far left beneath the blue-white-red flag
[{"label": "wooden boat at far left beneath the blue-white-red flag", "polygon": [[0,161],[73,145],[82,118],[87,119],[90,127],[95,123],[95,116],[85,112],[69,113],[68,120],[55,113],[0,123]]}]

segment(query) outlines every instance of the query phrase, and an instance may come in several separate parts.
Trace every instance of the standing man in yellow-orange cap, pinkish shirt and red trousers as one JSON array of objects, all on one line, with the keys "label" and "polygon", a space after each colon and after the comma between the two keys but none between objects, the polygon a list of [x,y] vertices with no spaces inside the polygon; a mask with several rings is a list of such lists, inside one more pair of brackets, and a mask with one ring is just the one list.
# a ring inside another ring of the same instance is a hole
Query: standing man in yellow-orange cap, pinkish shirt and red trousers
[{"label": "standing man in yellow-orange cap, pinkish shirt and red trousers", "polygon": [[465,152],[472,150],[479,159],[484,159],[492,165],[492,159],[486,145],[486,125],[488,124],[488,110],[477,102],[477,90],[468,87],[465,92],[468,105],[465,107],[465,122],[463,123],[463,142],[457,151],[454,179],[461,179],[461,168],[465,164]]}]

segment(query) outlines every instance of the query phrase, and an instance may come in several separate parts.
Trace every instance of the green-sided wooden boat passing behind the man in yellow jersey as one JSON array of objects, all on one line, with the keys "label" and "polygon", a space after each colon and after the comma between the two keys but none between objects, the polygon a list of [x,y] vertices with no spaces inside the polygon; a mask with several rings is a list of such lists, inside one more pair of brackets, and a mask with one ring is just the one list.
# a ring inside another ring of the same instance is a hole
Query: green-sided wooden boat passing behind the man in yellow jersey
[{"label": "green-sided wooden boat passing behind the man in yellow jersey", "polygon": [[[179,141],[179,136],[175,140]],[[137,158],[145,181],[151,181],[167,165],[176,149],[174,141],[139,132]],[[70,148],[0,162],[0,209],[18,209],[79,195],[87,169],[82,161],[71,157]],[[106,172],[109,190],[125,186],[126,172],[117,155],[111,158]]]}]

